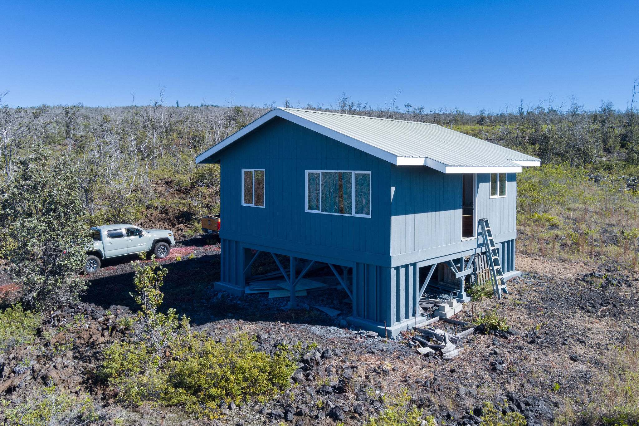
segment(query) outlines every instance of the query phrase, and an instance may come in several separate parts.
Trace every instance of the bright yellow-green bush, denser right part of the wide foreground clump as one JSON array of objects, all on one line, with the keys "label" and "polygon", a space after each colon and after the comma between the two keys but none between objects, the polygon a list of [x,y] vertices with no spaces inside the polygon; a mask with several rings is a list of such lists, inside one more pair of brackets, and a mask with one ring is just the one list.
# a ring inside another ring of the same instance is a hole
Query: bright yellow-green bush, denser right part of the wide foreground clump
[{"label": "bright yellow-green bush, denser right part of the wide foreground clump", "polygon": [[252,339],[241,334],[226,343],[215,343],[200,334],[173,347],[166,366],[167,404],[212,413],[220,401],[265,401],[289,386],[296,365],[286,351],[275,356],[256,352]]}]

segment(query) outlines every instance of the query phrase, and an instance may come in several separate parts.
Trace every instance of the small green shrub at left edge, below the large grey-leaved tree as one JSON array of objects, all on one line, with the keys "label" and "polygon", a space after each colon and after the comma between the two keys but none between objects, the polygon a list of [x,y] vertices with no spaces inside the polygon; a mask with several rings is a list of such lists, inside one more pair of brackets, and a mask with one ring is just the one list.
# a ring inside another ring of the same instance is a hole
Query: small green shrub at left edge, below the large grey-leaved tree
[{"label": "small green shrub at left edge, below the large grey-leaved tree", "polygon": [[40,321],[39,314],[23,310],[20,303],[0,311],[0,353],[33,342]]}]

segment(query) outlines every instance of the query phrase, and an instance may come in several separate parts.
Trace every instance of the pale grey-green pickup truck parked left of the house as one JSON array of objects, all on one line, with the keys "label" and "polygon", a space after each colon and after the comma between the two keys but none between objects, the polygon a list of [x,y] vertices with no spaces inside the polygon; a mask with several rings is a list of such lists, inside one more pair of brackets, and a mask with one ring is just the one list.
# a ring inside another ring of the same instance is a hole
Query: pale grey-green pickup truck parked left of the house
[{"label": "pale grey-green pickup truck parked left of the house", "polygon": [[93,249],[87,252],[84,273],[96,273],[103,259],[140,252],[153,252],[162,259],[175,245],[173,232],[165,229],[141,229],[135,225],[116,224],[91,228]]}]

